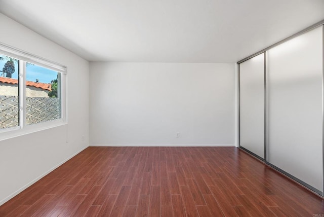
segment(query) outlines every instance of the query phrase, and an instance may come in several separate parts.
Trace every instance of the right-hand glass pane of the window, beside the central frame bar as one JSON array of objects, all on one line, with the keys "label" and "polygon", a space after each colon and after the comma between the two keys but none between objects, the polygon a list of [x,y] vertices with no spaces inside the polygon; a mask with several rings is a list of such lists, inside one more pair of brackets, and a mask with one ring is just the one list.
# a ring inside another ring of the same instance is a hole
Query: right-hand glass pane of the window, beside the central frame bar
[{"label": "right-hand glass pane of the window, beside the central frame bar", "polygon": [[26,64],[26,125],[61,118],[60,73]]}]

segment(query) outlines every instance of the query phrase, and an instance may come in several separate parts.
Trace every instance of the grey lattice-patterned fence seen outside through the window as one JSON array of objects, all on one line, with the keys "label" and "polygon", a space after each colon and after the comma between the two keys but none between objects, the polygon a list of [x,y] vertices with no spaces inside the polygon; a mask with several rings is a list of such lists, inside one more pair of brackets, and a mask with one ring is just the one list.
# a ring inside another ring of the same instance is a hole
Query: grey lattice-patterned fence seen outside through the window
[{"label": "grey lattice-patterned fence seen outside through the window", "polygon": [[[26,97],[26,124],[59,119],[60,98]],[[18,126],[18,96],[0,96],[0,129]]]}]

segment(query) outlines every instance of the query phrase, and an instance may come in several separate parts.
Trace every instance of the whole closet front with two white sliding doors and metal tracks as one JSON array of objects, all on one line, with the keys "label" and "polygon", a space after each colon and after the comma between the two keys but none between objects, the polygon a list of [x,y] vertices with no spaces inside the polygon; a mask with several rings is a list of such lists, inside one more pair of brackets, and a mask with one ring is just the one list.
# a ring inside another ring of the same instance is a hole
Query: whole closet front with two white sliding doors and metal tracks
[{"label": "whole closet front with two white sliding doors and metal tracks", "polygon": [[239,147],[323,195],[323,23],[239,67]]}]

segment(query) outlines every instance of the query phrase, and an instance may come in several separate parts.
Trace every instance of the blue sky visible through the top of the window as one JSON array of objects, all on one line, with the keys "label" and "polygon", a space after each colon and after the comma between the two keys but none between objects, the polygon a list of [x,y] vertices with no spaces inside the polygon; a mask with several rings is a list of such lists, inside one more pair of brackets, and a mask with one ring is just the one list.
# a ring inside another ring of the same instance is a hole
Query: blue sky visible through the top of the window
[{"label": "blue sky visible through the top of the window", "polygon": [[[4,60],[0,61],[0,75],[3,76],[3,68],[5,63],[7,62],[6,56],[1,55],[4,57]],[[5,75],[6,76],[6,75]],[[18,78],[18,63],[15,63],[15,73],[12,74],[13,79]],[[38,65],[28,65],[26,69],[26,80],[35,82],[36,79],[39,79],[41,83],[51,83],[52,80],[57,78],[57,71],[44,68]]]}]

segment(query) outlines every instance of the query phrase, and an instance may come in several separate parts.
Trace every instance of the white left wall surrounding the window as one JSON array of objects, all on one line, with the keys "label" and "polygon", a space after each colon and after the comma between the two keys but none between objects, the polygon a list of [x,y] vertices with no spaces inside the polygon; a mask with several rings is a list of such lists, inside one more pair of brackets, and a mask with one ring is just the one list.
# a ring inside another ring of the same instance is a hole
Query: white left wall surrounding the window
[{"label": "white left wall surrounding the window", "polygon": [[0,141],[1,205],[88,147],[89,62],[3,14],[0,23],[1,43],[58,62],[68,71],[68,124]]}]

